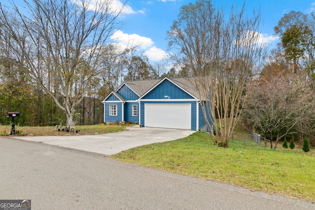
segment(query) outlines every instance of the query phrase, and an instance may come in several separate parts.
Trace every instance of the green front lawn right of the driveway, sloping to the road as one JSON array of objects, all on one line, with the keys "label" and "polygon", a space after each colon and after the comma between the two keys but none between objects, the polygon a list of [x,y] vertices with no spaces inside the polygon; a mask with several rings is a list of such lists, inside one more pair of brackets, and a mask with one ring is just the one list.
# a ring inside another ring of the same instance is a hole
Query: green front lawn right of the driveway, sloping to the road
[{"label": "green front lawn right of the driveway, sloping to the road", "polygon": [[218,180],[251,190],[315,201],[315,153],[265,149],[230,142],[214,146],[209,134],[146,145],[111,155],[131,164],[203,180]]}]

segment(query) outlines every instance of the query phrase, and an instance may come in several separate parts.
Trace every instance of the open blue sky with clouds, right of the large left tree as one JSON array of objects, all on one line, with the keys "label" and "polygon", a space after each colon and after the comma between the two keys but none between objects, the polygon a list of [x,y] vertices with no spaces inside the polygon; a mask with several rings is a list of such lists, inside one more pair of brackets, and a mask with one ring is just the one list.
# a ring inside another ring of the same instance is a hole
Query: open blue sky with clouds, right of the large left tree
[{"label": "open blue sky with clouds, right of the large left tree", "polygon": [[[114,0],[117,5],[124,0]],[[158,62],[167,51],[166,31],[170,29],[173,20],[182,5],[195,0],[129,0],[126,3],[125,14],[121,17],[124,27],[116,34],[122,43],[127,39],[140,44],[139,51],[144,52],[151,62]],[[215,5],[225,5],[228,10],[233,4],[238,8],[244,0],[212,0]],[[249,14],[253,9],[261,10],[263,28],[261,38],[264,42],[275,46],[278,39],[273,35],[273,28],[284,14],[291,10],[309,13],[315,9],[315,0],[247,0],[246,8]]]}]

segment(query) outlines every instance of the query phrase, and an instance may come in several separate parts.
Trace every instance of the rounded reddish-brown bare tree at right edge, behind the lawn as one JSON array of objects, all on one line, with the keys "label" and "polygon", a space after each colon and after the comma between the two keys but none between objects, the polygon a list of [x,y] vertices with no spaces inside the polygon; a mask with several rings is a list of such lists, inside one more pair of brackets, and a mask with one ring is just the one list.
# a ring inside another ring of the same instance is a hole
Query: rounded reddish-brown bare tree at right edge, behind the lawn
[{"label": "rounded reddish-brown bare tree at right edge, behind the lawn", "polygon": [[[269,136],[271,148],[276,150],[281,138],[297,133],[302,126],[312,126],[314,105],[314,91],[305,74],[282,71],[257,84],[249,97],[244,118],[261,131],[264,138]],[[276,139],[274,146],[273,138]]]}]

